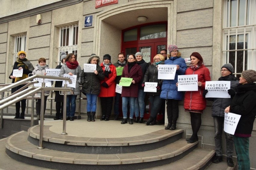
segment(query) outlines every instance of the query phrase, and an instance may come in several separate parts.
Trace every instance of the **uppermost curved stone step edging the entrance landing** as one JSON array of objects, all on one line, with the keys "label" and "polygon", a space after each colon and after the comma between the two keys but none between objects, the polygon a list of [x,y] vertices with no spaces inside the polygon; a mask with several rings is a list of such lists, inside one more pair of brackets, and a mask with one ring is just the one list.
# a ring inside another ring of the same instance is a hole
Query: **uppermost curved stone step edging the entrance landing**
[{"label": "uppermost curved stone step edging the entrance landing", "polygon": [[[76,153],[122,154],[157,149],[182,138],[183,129],[157,130],[140,136],[91,138],[55,133],[44,126],[43,147]],[[38,145],[40,125],[29,128],[29,142]],[[157,142],[157,144],[156,144]],[[62,145],[60,145],[62,144]]]}]

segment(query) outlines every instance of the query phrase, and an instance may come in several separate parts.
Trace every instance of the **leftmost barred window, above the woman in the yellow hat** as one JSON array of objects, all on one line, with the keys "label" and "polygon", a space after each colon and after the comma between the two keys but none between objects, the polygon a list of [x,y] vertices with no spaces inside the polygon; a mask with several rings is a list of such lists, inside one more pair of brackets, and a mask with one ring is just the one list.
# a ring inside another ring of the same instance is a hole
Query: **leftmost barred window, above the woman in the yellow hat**
[{"label": "leftmost barred window, above the woman in the yellow hat", "polygon": [[14,37],[14,53],[13,53],[13,63],[17,60],[19,51],[26,52],[26,34],[19,34]]}]

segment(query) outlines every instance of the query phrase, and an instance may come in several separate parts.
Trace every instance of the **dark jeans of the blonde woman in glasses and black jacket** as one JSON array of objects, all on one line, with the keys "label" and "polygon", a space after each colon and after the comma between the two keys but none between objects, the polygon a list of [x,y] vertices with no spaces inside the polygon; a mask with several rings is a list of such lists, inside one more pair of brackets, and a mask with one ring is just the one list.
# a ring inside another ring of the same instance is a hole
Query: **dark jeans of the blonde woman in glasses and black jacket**
[{"label": "dark jeans of the blonde woman in glasses and black jacket", "polygon": [[161,110],[162,101],[160,95],[149,95],[150,116],[152,118],[157,117],[157,113]]}]

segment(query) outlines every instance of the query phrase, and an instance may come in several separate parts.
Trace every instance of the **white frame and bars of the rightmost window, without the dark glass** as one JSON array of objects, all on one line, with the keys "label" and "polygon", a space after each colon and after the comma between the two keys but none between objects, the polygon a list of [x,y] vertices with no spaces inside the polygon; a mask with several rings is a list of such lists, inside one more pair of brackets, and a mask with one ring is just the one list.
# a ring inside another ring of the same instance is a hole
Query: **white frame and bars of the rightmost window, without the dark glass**
[{"label": "white frame and bars of the rightmost window, without the dark glass", "polygon": [[[237,72],[236,70],[236,62],[237,62],[237,51],[244,51],[243,52],[243,70],[253,69],[256,70],[256,0],[246,0],[249,3],[249,15],[248,15],[248,25],[246,25],[246,18],[244,19],[245,25],[238,26],[238,4],[236,9],[236,26],[228,27],[230,24],[230,16],[227,14],[228,9],[230,9],[230,3],[228,3],[230,0],[225,0],[224,2],[224,19],[223,19],[223,62],[229,63],[229,51],[235,51],[235,67],[234,67],[234,74],[240,75],[240,72]],[[237,3],[239,3],[239,0],[237,0]],[[229,5],[228,5],[229,4]],[[245,13],[247,13],[247,8],[245,8]],[[229,16],[229,18],[228,18]],[[243,40],[243,49],[237,49],[237,36],[238,35],[244,35]],[[248,42],[247,42],[247,48],[245,48],[245,35],[248,34]],[[236,35],[236,42],[235,42],[235,49],[229,50],[229,37],[232,35]],[[247,51],[247,68],[245,68],[245,51]],[[242,71],[243,71],[242,70]]]}]

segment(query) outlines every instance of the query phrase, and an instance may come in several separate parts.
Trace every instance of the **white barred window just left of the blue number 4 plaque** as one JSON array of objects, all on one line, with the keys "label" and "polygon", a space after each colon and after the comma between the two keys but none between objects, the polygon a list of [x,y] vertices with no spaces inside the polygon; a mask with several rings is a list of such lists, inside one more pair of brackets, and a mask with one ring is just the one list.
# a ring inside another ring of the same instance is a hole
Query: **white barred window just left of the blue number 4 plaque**
[{"label": "white barred window just left of the blue number 4 plaque", "polygon": [[[69,29],[69,34],[67,35],[67,30]],[[66,30],[66,31],[63,31]],[[64,34],[64,32],[66,32]],[[74,37],[75,35],[75,37]],[[69,37],[67,40],[67,36]],[[60,62],[60,53],[62,51],[66,52],[66,54],[73,53],[77,56],[77,37],[78,37],[78,24],[71,24],[62,26],[59,28],[59,47],[58,50],[58,63]],[[75,44],[73,44],[75,41]],[[64,44],[64,45],[63,45]]]}]

